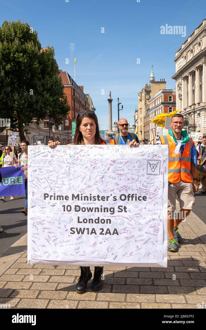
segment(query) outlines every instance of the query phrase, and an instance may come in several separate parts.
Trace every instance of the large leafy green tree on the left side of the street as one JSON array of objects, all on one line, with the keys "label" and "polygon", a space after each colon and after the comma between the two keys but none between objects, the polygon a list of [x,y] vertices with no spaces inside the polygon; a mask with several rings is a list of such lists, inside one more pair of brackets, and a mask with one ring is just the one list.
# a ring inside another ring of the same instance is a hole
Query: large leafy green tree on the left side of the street
[{"label": "large leafy green tree on the left side of the street", "polygon": [[11,130],[28,134],[33,118],[49,111],[55,123],[70,111],[54,58],[54,48],[42,49],[37,32],[20,20],[0,26],[0,118],[11,119]]}]

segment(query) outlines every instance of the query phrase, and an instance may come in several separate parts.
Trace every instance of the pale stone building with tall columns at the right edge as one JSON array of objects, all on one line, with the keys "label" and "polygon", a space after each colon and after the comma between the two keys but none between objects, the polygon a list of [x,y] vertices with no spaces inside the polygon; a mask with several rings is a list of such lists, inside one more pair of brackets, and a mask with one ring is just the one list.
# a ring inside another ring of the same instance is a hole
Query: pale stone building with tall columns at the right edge
[{"label": "pale stone building with tall columns at the right edge", "polygon": [[[176,52],[177,109],[184,116],[188,128],[206,133],[206,19],[185,40]],[[195,103],[195,119],[193,112]]]}]

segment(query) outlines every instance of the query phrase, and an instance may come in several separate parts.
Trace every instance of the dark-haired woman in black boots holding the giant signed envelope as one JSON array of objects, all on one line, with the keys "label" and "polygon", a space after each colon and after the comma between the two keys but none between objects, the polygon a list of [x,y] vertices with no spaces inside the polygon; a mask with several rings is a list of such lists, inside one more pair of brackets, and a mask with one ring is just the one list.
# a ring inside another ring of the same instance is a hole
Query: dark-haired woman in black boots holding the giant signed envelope
[{"label": "dark-haired woman in black boots holding the giant signed envelope", "polygon": [[[50,148],[55,148],[59,141],[48,144]],[[76,131],[74,135],[74,145],[105,145],[100,137],[98,119],[94,111],[81,111],[76,119]],[[137,146],[135,140],[129,141],[129,147]],[[82,267],[81,275],[76,285],[76,292],[83,293],[87,288],[87,282],[92,278],[90,267]],[[103,267],[95,267],[94,278],[92,280],[92,290],[99,291],[103,287]]]}]

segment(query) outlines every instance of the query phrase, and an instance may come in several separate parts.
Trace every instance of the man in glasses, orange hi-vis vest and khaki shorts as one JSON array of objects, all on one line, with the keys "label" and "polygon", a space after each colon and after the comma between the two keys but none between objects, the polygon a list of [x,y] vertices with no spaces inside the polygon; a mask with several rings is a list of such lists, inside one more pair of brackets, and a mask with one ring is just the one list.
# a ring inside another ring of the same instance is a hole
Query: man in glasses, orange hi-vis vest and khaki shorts
[{"label": "man in glasses, orange hi-vis vest and khaki shorts", "polygon": [[[169,134],[161,136],[161,144],[168,146],[168,232],[170,241],[168,250],[176,252],[177,244],[183,243],[178,225],[190,213],[195,204],[192,179],[198,190],[196,148],[187,131],[182,130],[184,118],[180,114],[172,116]],[[180,201],[181,212],[175,212],[176,196]],[[178,215],[178,216],[177,216]]]}]

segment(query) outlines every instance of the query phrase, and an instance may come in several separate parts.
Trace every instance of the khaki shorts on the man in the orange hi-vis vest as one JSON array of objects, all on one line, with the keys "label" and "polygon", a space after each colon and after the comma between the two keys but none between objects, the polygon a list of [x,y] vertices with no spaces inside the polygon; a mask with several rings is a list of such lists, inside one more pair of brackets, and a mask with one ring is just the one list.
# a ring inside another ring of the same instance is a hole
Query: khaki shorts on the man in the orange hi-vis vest
[{"label": "khaki shorts on the man in the orange hi-vis vest", "polygon": [[191,210],[195,204],[195,198],[192,190],[192,183],[180,180],[177,183],[171,183],[168,187],[168,211],[175,211],[176,196],[180,201],[180,209]]}]

